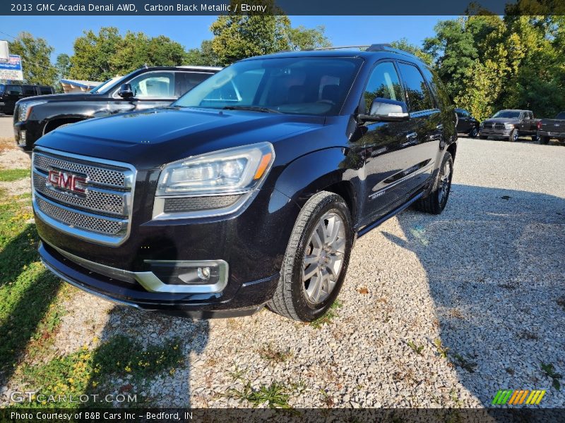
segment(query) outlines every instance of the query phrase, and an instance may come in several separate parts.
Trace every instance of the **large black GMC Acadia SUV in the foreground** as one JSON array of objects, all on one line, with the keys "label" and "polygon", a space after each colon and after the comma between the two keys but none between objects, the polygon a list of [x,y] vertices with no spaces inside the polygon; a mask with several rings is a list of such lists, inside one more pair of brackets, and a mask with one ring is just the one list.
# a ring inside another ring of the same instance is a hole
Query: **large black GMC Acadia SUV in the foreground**
[{"label": "large black GMC Acadia SUV in the foreground", "polygon": [[40,255],[140,309],[311,321],[357,236],[410,204],[446,207],[455,127],[437,76],[382,44],[239,61],[171,106],[42,137]]}]

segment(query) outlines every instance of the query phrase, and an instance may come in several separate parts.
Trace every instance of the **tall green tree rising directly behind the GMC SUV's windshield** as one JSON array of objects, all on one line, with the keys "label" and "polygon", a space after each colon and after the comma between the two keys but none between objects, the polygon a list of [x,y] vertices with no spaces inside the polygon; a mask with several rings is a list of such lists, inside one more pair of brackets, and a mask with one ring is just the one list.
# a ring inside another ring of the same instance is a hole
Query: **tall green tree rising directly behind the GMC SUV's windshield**
[{"label": "tall green tree rising directly behind the GMC SUV's windshield", "polygon": [[232,11],[241,10],[241,4],[261,4],[265,13],[218,16],[210,26],[214,38],[212,49],[222,65],[261,54],[290,49],[288,33],[290,20],[275,6],[274,0],[232,0]]}]

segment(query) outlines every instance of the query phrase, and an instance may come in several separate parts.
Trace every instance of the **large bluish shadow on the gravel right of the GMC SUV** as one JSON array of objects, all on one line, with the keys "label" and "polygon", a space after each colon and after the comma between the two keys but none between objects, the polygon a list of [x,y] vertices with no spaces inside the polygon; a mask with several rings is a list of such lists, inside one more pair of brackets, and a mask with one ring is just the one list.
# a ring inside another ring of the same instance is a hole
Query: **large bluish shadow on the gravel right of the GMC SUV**
[{"label": "large bluish shadow on the gravel right of the GMC SUV", "polygon": [[[453,185],[444,214],[398,216],[436,305],[441,343],[461,383],[484,405],[499,389],[546,389],[542,407],[563,407],[542,364],[565,374],[565,199]],[[562,384],[563,381],[561,381]]]}]

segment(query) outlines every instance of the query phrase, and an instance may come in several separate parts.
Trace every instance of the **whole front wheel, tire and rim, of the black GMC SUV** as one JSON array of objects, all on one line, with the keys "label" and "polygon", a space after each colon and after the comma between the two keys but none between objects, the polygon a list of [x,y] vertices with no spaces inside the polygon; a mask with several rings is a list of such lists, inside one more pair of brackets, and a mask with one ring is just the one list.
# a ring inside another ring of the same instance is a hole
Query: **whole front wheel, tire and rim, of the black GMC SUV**
[{"label": "whole front wheel, tire and rim, of the black GMC SUV", "polygon": [[289,319],[313,321],[338,297],[352,247],[350,211],[342,197],[322,191],[298,215],[269,309]]}]

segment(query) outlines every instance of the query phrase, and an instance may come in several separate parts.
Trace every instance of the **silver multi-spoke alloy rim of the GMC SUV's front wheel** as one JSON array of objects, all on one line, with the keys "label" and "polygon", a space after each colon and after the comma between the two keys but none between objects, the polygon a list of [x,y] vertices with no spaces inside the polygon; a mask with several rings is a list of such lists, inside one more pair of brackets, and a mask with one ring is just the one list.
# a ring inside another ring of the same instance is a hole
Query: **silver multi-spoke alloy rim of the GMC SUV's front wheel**
[{"label": "silver multi-spoke alloy rim of the GMC SUV's front wheel", "polygon": [[327,212],[316,223],[304,250],[302,283],[314,305],[325,301],[335,288],[345,254],[345,225],[335,212]]}]

